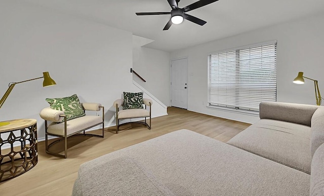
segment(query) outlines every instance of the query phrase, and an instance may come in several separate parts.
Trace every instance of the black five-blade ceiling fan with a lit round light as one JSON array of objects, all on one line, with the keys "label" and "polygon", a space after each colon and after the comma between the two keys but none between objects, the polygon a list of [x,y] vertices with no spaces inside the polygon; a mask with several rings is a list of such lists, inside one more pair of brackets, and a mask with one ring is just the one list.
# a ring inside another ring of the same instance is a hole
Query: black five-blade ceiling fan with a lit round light
[{"label": "black five-blade ceiling fan with a lit round light", "polygon": [[189,14],[186,14],[186,12],[189,12],[191,10],[206,6],[208,4],[217,2],[218,0],[200,0],[196,3],[190,4],[189,6],[186,6],[184,8],[179,8],[178,3],[180,0],[168,0],[172,10],[171,12],[136,12],[136,15],[143,16],[143,15],[163,15],[163,14],[171,14],[171,19],[167,23],[167,25],[164,27],[163,30],[168,30],[170,26],[173,24],[180,24],[182,23],[183,19],[189,20],[193,23],[199,24],[203,26],[207,22],[204,20],[201,20],[199,18],[196,18],[194,16],[191,16]]}]

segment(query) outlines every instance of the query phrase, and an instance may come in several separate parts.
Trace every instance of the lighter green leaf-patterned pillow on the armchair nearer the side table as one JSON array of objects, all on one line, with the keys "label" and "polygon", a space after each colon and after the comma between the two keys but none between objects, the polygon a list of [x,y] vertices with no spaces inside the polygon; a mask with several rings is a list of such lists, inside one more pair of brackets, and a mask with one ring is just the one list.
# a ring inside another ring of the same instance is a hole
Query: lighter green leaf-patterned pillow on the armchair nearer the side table
[{"label": "lighter green leaf-patterned pillow on the armchair nearer the side table", "polygon": [[63,111],[67,121],[86,115],[79,98],[75,94],[63,98],[47,98],[46,101],[52,109]]}]

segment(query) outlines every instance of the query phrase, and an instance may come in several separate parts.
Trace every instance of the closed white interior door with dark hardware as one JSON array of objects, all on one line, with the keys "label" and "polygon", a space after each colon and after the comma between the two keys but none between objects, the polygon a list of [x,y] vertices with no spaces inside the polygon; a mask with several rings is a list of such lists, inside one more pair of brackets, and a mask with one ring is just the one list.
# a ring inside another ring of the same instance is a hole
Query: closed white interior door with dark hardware
[{"label": "closed white interior door with dark hardware", "polygon": [[187,109],[187,58],[171,61],[171,106]]}]

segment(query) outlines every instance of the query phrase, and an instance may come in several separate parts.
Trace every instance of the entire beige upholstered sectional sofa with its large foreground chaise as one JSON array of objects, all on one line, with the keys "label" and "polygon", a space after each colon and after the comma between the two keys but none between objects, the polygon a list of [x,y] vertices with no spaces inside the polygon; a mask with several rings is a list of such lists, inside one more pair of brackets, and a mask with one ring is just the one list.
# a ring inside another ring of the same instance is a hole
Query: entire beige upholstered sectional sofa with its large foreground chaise
[{"label": "entire beige upholstered sectional sofa with its large foreground chaise", "polygon": [[324,195],[323,121],[321,106],[261,103],[227,143],[179,130],[84,163],[72,195]]}]

